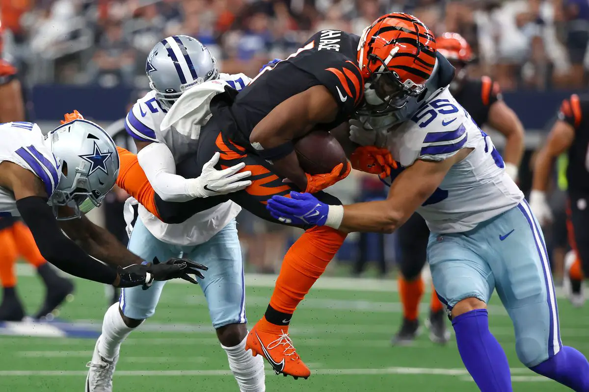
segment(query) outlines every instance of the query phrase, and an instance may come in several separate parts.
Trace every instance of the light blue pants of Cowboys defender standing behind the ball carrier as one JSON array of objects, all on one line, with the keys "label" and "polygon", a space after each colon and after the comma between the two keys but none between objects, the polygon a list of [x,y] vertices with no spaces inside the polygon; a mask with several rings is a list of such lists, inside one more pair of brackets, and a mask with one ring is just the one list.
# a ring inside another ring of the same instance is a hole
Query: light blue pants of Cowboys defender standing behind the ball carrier
[{"label": "light blue pants of Cowboys defender standing behind the ball carrier", "polygon": [[[235,220],[203,244],[176,246],[156,239],[141,219],[137,219],[128,249],[147,261],[157,257],[160,262],[166,262],[182,254],[182,257],[205,264],[209,270],[203,272],[204,279],[197,277],[197,280],[209,304],[213,327],[247,323],[243,263]],[[123,289],[119,301],[123,314],[137,320],[153,316],[165,283],[154,282],[147,290],[141,287]],[[190,289],[196,287],[187,287]]]}]

